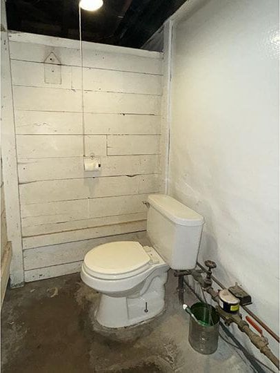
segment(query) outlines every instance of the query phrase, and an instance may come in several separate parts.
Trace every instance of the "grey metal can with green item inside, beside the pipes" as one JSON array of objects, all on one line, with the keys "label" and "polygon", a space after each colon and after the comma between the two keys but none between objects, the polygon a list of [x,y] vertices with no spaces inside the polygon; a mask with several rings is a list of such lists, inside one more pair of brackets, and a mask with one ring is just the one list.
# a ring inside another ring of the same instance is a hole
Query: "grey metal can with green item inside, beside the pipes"
[{"label": "grey metal can with green item inside, beside the pipes", "polygon": [[206,303],[195,303],[190,309],[199,321],[197,323],[194,318],[190,318],[188,336],[190,345],[200,354],[213,354],[218,348],[219,314],[214,307]]}]

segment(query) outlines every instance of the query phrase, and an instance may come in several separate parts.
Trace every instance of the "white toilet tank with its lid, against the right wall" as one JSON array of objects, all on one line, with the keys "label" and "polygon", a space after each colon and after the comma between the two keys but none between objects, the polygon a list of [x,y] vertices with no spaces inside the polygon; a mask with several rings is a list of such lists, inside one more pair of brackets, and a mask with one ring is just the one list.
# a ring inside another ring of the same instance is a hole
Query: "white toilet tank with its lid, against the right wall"
[{"label": "white toilet tank with its lid, against the right wall", "polygon": [[172,269],[192,269],[197,262],[203,216],[169,195],[149,195],[147,233]]}]

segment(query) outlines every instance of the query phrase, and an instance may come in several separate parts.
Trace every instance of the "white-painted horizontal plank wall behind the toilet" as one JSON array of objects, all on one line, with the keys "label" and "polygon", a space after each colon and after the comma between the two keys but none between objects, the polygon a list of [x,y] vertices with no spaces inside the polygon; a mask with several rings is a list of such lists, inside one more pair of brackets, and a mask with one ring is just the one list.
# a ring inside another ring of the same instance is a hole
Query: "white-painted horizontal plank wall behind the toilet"
[{"label": "white-painted horizontal plank wall behind the toilet", "polygon": [[[60,84],[45,82],[50,52]],[[103,242],[143,240],[143,200],[161,187],[161,54],[85,43],[83,55],[86,155],[101,157],[92,173],[83,171],[77,42],[10,36],[26,281],[79,270]]]}]

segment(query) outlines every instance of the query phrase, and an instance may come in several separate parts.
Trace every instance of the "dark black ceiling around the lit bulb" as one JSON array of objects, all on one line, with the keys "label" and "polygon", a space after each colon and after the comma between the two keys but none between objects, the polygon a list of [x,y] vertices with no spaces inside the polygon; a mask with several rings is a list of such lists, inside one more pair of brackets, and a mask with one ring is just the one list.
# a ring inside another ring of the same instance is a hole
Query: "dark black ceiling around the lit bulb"
[{"label": "dark black ceiling around the lit bulb", "polygon": [[[83,40],[141,48],[186,0],[103,0],[82,11]],[[8,28],[79,39],[79,0],[7,0]]]}]

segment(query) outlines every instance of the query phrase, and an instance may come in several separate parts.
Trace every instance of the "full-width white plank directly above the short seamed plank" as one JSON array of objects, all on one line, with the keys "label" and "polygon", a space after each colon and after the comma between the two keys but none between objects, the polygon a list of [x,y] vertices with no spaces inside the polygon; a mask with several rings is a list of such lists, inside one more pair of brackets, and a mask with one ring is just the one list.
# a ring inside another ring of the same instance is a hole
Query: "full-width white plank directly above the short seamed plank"
[{"label": "full-width white plank directly above the short seamed plank", "polygon": [[[81,113],[16,111],[18,135],[81,135]],[[86,113],[87,135],[159,135],[159,115]]]}]

